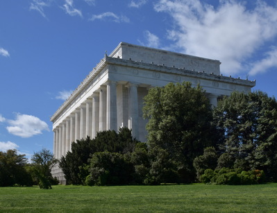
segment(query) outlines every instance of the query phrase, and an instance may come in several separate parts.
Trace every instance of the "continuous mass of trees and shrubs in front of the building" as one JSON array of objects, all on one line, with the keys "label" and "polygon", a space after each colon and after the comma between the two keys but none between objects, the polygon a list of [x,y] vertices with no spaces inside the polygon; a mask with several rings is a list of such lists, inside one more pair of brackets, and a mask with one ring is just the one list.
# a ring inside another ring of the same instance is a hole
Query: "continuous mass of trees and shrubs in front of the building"
[{"label": "continuous mass of trees and shrubs in front of the building", "polygon": [[159,185],[277,181],[277,103],[234,92],[212,108],[201,87],[169,83],[144,98],[147,142],[107,130],[72,143],[60,160],[67,184]]}]

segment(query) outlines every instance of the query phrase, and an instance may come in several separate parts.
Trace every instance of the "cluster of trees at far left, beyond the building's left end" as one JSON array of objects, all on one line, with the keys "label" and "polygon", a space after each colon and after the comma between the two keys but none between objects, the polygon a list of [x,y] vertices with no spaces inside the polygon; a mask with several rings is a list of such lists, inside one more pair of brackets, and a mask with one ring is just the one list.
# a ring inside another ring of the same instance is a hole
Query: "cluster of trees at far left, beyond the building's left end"
[{"label": "cluster of trees at far left, beyond the building's left end", "polygon": [[51,185],[58,184],[51,175],[51,168],[57,162],[45,148],[34,153],[31,163],[15,149],[0,151],[0,187],[39,185],[51,189]]}]

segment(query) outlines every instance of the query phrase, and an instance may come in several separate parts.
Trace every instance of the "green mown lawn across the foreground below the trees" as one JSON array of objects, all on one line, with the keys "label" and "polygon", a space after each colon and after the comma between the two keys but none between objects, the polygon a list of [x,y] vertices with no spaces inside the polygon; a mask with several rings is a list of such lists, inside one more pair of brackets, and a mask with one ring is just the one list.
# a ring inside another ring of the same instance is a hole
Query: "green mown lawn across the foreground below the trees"
[{"label": "green mown lawn across the foreground below the trees", "polygon": [[277,212],[277,184],[1,187],[0,212]]}]

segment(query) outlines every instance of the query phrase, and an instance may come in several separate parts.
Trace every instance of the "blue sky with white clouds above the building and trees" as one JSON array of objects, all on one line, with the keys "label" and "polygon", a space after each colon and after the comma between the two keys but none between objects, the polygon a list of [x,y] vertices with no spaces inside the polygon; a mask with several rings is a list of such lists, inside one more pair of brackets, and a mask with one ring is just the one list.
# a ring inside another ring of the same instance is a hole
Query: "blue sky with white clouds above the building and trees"
[{"label": "blue sky with white clouds above the building and trees", "polygon": [[119,42],[220,60],[277,97],[276,23],[276,0],[0,0],[0,151],[52,151],[51,115]]}]

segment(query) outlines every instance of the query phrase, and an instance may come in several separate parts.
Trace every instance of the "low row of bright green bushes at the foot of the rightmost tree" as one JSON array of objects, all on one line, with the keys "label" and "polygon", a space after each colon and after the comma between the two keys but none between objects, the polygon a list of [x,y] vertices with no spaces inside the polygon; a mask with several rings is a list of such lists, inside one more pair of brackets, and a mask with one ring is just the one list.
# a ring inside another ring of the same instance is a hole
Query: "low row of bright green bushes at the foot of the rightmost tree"
[{"label": "low row of bright green bushes at the foot of the rightmost tree", "polygon": [[201,182],[217,185],[253,185],[264,183],[265,180],[265,172],[262,170],[206,169],[201,176]]}]

